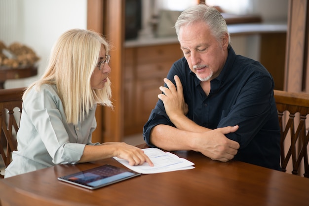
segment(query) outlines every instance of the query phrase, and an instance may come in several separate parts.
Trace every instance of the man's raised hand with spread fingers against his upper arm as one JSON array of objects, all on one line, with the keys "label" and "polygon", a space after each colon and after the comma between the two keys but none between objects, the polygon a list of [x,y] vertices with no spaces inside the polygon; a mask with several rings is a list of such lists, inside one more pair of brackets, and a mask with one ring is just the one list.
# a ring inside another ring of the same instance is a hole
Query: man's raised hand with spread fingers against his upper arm
[{"label": "man's raised hand with spread fingers against his upper arm", "polygon": [[186,115],[189,111],[188,104],[184,100],[181,81],[177,75],[174,76],[174,79],[176,86],[169,79],[164,78],[168,88],[160,87],[159,89],[164,94],[158,95],[158,98],[164,103],[166,114],[171,120],[178,115]]}]

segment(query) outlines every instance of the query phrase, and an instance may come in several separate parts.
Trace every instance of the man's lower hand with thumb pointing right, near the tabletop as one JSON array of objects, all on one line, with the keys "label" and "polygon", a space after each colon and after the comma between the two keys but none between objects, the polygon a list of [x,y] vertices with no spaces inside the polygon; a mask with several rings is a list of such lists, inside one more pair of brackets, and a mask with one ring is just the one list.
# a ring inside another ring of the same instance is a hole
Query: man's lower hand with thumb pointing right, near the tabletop
[{"label": "man's lower hand with thumb pointing right, near the tabletop", "polygon": [[225,135],[236,132],[237,130],[238,126],[234,126],[201,133],[201,136],[197,137],[194,142],[196,147],[194,150],[201,152],[213,160],[228,162],[237,154],[239,143],[227,138]]}]

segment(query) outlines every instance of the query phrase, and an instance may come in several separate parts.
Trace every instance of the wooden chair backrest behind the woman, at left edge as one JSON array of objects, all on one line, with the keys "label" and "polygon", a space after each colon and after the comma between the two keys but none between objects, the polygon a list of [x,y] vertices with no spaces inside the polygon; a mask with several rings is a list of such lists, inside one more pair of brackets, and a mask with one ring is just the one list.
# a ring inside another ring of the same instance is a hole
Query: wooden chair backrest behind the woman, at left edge
[{"label": "wooden chair backrest behind the woman, at left edge", "polygon": [[[17,150],[16,133],[19,129],[24,90],[25,88],[0,89],[0,154],[4,168],[11,162],[12,151]],[[0,177],[3,178],[3,175],[0,174]]]}]

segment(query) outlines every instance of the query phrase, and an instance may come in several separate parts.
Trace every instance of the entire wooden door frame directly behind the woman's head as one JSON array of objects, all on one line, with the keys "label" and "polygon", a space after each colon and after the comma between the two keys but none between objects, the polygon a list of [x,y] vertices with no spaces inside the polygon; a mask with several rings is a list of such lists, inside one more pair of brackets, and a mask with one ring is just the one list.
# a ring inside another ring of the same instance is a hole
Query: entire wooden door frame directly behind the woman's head
[{"label": "entire wooden door frame directly behind the woman's head", "polygon": [[96,111],[97,129],[92,135],[93,142],[122,141],[123,138],[123,41],[124,41],[124,0],[88,0],[87,29],[105,36],[111,43],[112,101],[114,108],[98,106]]}]

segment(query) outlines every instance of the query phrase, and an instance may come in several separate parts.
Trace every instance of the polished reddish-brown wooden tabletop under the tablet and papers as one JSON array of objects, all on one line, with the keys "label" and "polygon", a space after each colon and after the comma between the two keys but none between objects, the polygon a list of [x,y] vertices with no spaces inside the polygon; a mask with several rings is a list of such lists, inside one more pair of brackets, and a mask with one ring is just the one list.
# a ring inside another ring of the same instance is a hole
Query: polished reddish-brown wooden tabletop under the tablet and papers
[{"label": "polished reddish-brown wooden tabletop under the tablet and papers", "polygon": [[[146,144],[139,147],[147,147]],[[0,180],[0,199],[17,194],[53,201],[53,205],[132,206],[308,206],[309,178],[238,161],[222,163],[198,152],[173,152],[195,169],[142,174],[96,190],[57,177],[104,164],[123,167],[113,158],[58,165]],[[24,202],[23,205],[26,204]],[[35,204],[32,204],[35,205]]]}]

